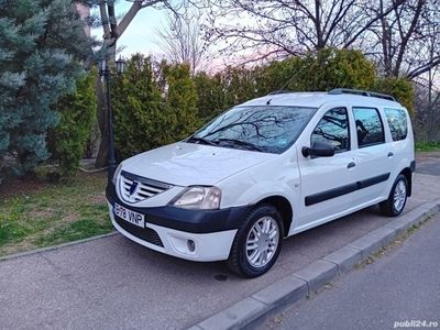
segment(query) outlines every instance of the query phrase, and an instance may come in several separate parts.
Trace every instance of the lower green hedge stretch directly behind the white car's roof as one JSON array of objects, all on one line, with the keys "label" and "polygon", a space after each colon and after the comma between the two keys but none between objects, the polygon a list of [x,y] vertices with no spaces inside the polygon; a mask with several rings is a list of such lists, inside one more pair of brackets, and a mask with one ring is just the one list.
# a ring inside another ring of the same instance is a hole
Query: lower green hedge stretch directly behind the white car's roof
[{"label": "lower green hedge stretch directly behind the white car's roof", "polygon": [[360,51],[326,48],[317,54],[293,56],[253,68],[227,67],[220,73],[199,73],[194,78],[200,117],[209,120],[221,111],[272,91],[328,91],[333,88],[365,89],[393,95],[414,109],[409,81],[381,78]]}]

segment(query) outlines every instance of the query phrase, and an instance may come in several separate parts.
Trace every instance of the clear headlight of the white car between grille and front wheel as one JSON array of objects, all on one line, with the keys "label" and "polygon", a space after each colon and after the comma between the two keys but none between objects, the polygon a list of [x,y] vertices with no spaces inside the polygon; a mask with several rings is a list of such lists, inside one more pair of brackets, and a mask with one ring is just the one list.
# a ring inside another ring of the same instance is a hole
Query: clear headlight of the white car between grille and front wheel
[{"label": "clear headlight of the white car between grille and front wheel", "polygon": [[191,210],[215,210],[220,207],[221,193],[216,187],[189,187],[169,205]]}]

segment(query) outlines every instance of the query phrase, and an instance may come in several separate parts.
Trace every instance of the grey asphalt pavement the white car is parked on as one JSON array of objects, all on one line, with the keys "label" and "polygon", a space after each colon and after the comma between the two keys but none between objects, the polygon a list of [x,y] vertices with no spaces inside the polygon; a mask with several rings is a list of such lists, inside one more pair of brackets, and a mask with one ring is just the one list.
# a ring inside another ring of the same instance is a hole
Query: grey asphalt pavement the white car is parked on
[{"label": "grey asphalt pavement the white car is parked on", "polygon": [[[439,198],[440,176],[416,173],[405,212]],[[163,255],[119,234],[3,261],[0,329],[186,329],[386,221],[372,207],[295,235],[271,272],[255,279],[234,276],[223,263]]]}]

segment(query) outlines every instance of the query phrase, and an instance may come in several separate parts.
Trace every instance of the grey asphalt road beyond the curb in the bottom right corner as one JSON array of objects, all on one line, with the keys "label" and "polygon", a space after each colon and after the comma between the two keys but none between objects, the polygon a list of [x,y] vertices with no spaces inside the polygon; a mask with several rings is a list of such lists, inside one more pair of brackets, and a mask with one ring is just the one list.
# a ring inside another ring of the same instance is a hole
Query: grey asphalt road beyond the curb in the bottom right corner
[{"label": "grey asphalt road beyond the curb in the bottom right corner", "polygon": [[[402,246],[267,321],[261,329],[440,329],[440,216]],[[430,323],[432,322],[432,323]],[[437,327],[435,327],[437,324]],[[424,327],[420,327],[424,328]]]}]

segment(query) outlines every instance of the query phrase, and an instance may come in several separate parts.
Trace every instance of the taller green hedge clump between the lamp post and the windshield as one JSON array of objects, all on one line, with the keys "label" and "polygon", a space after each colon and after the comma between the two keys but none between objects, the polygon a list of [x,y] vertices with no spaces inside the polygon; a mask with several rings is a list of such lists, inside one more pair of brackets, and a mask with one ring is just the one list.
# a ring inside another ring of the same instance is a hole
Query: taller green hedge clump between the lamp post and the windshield
[{"label": "taller green hedge clump between the lamp post and the windshield", "polygon": [[187,65],[154,65],[136,54],[127,66],[111,84],[119,161],[180,140],[199,125],[197,90]]}]

